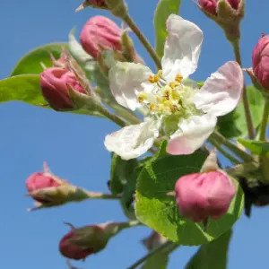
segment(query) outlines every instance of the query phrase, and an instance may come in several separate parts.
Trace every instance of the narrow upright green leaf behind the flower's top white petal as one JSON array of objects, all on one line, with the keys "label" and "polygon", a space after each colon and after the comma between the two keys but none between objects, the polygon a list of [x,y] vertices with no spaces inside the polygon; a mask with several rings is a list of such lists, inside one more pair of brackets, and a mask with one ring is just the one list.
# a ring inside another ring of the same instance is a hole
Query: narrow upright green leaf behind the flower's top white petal
[{"label": "narrow upright green leaf behind the flower's top white petal", "polygon": [[167,37],[166,21],[172,13],[179,13],[181,0],[160,0],[154,15],[155,47],[157,54],[162,57],[165,39]]}]

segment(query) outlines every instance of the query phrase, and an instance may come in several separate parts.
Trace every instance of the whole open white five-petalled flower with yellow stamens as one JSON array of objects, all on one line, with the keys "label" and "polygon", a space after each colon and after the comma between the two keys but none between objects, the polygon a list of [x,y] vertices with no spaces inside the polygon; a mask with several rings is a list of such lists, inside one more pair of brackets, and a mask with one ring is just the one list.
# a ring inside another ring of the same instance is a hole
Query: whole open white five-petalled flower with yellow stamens
[{"label": "whole open white five-petalled flower with yellow stamens", "polygon": [[105,145],[122,159],[147,152],[161,134],[169,138],[167,152],[191,154],[213,133],[217,117],[232,111],[243,89],[243,72],[228,62],[212,74],[201,89],[182,81],[195,72],[203,32],[178,15],[167,21],[168,38],[158,74],[141,64],[117,63],[109,83],[117,102],[132,110],[143,108],[143,123],[107,135]]}]

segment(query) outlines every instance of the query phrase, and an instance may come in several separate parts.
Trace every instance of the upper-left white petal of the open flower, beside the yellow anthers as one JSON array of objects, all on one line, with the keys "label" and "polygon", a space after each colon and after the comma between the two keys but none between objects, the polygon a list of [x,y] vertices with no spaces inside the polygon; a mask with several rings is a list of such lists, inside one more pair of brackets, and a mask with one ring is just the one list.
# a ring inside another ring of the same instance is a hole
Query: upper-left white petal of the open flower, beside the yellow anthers
[{"label": "upper-left white petal of the open flower, beside the yellow anthers", "polygon": [[109,70],[108,79],[111,92],[117,102],[131,110],[139,108],[137,93],[150,84],[147,82],[150,74],[152,74],[151,69],[141,64],[118,62],[114,65]]}]

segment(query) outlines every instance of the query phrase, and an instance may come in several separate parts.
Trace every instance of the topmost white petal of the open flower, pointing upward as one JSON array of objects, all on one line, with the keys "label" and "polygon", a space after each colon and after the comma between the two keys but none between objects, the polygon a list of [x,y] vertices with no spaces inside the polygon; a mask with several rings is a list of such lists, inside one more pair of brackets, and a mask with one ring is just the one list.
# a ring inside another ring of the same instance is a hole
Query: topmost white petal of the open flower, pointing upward
[{"label": "topmost white petal of the open flower, pointing upward", "polygon": [[161,65],[164,78],[170,82],[176,74],[187,78],[195,72],[204,35],[195,23],[175,14],[171,14],[166,23],[168,38]]}]

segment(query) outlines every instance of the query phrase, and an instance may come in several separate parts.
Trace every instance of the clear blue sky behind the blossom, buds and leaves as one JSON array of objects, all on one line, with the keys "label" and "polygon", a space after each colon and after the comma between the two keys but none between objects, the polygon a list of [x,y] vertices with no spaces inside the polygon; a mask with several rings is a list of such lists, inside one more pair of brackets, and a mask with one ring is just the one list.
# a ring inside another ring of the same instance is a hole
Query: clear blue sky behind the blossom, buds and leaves
[{"label": "clear blue sky behind the blossom, buds and leaves", "polygon": [[[7,77],[17,60],[30,49],[55,41],[66,41],[74,25],[82,29],[91,16],[108,15],[87,9],[74,13],[80,0],[2,1],[0,9],[0,78]],[[26,4],[27,2],[27,4]],[[127,0],[129,10],[139,27],[153,42],[153,10],[157,0]],[[190,0],[182,0],[180,14],[204,30],[204,48],[200,65],[193,76],[204,80],[225,61],[233,59],[230,45],[222,31],[200,13]],[[247,1],[247,16],[242,24],[244,66],[251,65],[251,51],[262,32],[269,33],[265,23],[269,2]],[[137,50],[150,63],[144,49],[135,39]],[[63,207],[27,213],[32,201],[25,197],[25,179],[42,169],[42,162],[60,177],[77,186],[107,191],[110,155],[103,146],[106,134],[117,129],[108,120],[56,113],[20,102],[0,106],[1,245],[0,268],[48,269],[66,268],[59,255],[58,240],[67,232],[64,221],[76,226],[108,220],[125,221],[117,201],[87,201]],[[255,209],[252,218],[237,222],[230,246],[229,268],[264,268],[268,265],[269,208]],[[79,268],[126,268],[145,254],[140,239],[150,230],[134,228],[111,240],[108,248],[91,256]],[[180,247],[170,259],[169,269],[183,268],[195,247]]]}]

